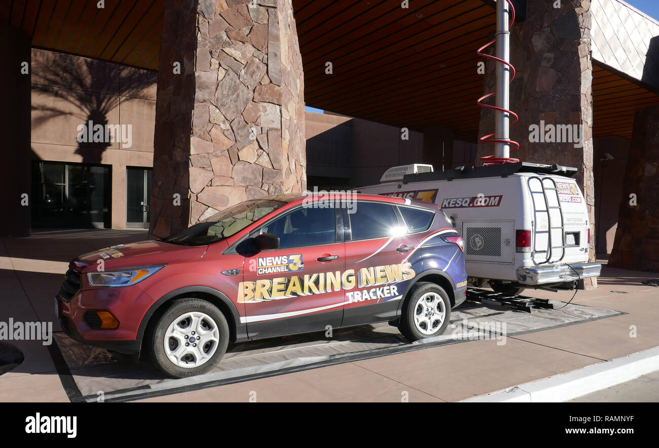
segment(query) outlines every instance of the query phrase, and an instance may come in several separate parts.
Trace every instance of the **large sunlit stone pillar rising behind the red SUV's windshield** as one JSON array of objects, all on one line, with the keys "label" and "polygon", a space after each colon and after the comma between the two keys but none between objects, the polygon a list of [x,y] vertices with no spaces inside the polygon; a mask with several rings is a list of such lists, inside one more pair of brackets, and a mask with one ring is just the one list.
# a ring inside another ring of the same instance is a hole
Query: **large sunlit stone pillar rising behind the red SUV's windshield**
[{"label": "large sunlit stone pillar rising behind the red SUV's windshield", "polygon": [[291,0],[165,0],[151,236],[303,191],[303,90]]}]

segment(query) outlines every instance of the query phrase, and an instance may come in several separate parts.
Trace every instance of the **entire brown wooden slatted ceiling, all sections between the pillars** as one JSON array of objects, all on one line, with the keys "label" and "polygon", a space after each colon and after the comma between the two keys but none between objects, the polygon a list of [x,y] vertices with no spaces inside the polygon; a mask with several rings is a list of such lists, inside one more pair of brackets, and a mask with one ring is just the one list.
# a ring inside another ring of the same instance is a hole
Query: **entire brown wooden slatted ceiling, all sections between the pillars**
[{"label": "entire brown wooden slatted ceiling, all sections between the pillars", "polygon": [[[158,69],[163,0],[4,0],[0,23],[34,47]],[[452,128],[475,141],[482,95],[475,49],[494,30],[481,0],[293,0],[308,105],[392,126]],[[417,14],[422,14],[418,17]],[[332,62],[333,74],[325,73]],[[659,96],[593,66],[593,135],[631,138]]]}]

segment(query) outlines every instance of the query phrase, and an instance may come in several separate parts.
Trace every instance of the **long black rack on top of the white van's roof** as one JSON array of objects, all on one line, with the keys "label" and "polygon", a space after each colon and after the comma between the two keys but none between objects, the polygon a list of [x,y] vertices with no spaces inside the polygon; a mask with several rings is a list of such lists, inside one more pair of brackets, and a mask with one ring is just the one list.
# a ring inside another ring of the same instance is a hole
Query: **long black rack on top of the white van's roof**
[{"label": "long black rack on top of the white van's roof", "polygon": [[420,172],[418,174],[405,174],[403,184],[409,182],[428,182],[432,180],[475,179],[475,178],[505,178],[517,172],[531,172],[535,174],[559,174],[572,177],[577,168],[561,166],[559,164],[547,165],[542,163],[515,162],[488,166],[457,166],[452,170]]}]

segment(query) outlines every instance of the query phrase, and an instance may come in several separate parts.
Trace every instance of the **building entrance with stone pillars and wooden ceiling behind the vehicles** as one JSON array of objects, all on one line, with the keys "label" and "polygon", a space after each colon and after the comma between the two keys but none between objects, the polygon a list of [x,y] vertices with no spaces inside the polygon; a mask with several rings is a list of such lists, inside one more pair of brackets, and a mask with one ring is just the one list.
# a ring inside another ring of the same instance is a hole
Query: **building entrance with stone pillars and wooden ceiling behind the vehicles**
[{"label": "building entrance with stone pillars and wooden ceiling behind the vehicles", "polygon": [[[18,3],[0,7],[0,50],[20,67],[1,75],[16,104],[0,124],[3,234],[161,237],[244,199],[493,151],[476,104],[494,87],[475,53],[494,36],[489,0]],[[576,166],[591,258],[657,270],[659,23],[621,0],[513,5],[513,157]]]}]

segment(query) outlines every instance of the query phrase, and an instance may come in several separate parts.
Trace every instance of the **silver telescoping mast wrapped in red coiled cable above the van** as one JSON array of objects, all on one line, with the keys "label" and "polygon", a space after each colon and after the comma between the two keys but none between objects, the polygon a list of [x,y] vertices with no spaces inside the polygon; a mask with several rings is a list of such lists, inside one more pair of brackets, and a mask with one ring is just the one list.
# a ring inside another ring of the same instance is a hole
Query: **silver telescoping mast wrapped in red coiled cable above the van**
[{"label": "silver telescoping mast wrapped in red coiled cable above the van", "polygon": [[[476,51],[478,55],[492,59],[496,64],[496,90],[478,99],[478,105],[494,110],[494,134],[480,137],[483,143],[494,143],[494,155],[481,157],[484,165],[514,163],[518,159],[510,157],[510,153],[519,147],[519,143],[510,139],[509,128],[517,122],[517,114],[510,110],[509,84],[515,78],[515,67],[510,63],[510,28],[515,22],[515,8],[510,0],[496,2],[496,35],[494,39]],[[496,42],[496,56],[482,53],[484,49]],[[482,103],[496,94],[496,106]],[[513,116],[513,122],[510,121]],[[494,138],[492,138],[494,136]],[[511,148],[511,145],[513,146]]]}]

